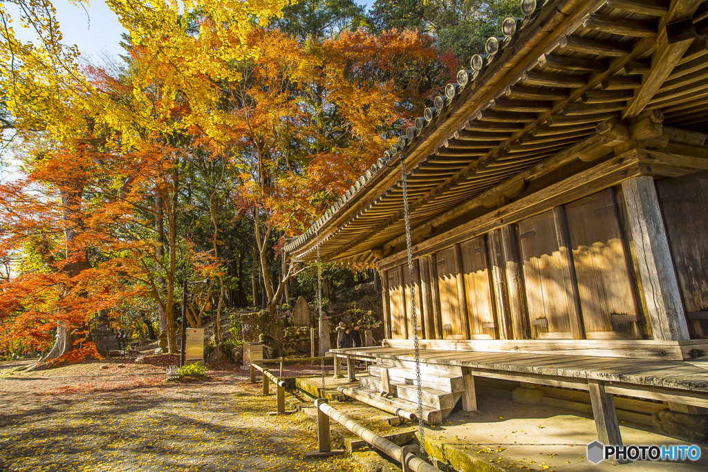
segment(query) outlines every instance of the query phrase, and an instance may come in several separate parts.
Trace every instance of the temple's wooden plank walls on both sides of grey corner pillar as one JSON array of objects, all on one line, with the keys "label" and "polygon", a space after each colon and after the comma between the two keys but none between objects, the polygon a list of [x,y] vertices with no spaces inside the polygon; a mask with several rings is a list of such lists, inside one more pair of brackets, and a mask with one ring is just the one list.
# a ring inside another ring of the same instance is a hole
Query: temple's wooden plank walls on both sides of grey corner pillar
[{"label": "temple's wooden plank walls on both sides of grey corner pillar", "polygon": [[[657,184],[691,338],[708,338],[708,174]],[[414,260],[422,339],[651,339],[622,188]],[[382,277],[392,338],[413,338],[408,265]]]}]

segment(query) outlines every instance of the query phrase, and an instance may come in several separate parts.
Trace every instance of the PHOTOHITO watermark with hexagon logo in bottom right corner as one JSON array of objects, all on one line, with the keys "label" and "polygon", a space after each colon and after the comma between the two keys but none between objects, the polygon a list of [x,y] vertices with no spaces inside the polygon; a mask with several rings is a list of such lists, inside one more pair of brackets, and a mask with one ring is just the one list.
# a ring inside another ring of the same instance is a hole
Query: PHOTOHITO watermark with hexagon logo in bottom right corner
[{"label": "PHOTOHITO watermark with hexagon logo in bottom right corner", "polygon": [[588,444],[588,461],[599,464],[614,457],[617,461],[697,461],[701,448],[691,446],[605,446],[599,441]]}]

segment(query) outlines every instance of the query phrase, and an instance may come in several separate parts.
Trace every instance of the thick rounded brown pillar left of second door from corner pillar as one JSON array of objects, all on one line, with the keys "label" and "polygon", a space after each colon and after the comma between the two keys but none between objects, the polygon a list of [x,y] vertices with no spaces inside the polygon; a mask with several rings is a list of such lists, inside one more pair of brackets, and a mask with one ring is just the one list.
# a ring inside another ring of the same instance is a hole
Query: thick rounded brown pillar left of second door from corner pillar
[{"label": "thick rounded brown pillar left of second door from corner pillar", "polygon": [[516,225],[507,224],[502,226],[500,233],[514,339],[530,339],[530,323],[523,282],[523,265],[519,255]]}]

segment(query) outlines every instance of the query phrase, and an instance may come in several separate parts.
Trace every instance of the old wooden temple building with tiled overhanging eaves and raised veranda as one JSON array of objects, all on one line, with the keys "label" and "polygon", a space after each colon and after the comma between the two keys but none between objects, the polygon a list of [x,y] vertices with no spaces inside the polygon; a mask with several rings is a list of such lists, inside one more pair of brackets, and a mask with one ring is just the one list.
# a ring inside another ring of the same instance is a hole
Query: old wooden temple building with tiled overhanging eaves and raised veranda
[{"label": "old wooden temple building with tiled overhanging eaves and raised veranda", "polygon": [[570,388],[617,444],[615,396],[708,413],[708,1],[522,10],[286,251],[377,267],[386,339],[335,350],[369,390],[411,396],[413,284],[443,416],[482,379]]}]

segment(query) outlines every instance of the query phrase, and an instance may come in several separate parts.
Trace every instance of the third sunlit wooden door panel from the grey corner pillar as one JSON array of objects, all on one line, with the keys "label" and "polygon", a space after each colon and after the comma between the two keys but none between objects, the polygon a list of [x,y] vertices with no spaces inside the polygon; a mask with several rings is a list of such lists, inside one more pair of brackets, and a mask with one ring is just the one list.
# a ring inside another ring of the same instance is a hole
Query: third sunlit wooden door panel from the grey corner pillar
[{"label": "third sunlit wooden door panel from the grey corner pillar", "polygon": [[497,338],[485,239],[479,236],[459,245],[471,339]]}]

